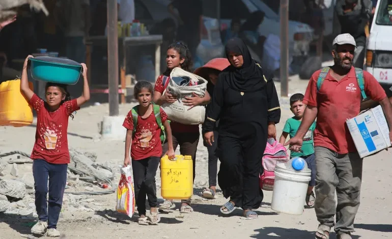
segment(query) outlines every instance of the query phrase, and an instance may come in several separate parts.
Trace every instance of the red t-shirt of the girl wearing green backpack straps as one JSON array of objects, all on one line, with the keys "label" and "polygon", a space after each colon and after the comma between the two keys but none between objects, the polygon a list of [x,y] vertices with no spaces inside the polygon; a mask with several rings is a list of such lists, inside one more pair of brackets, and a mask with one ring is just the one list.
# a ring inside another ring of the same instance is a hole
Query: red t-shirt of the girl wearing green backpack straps
[{"label": "red t-shirt of the girl wearing green backpack straps", "polygon": [[[160,108],[162,124],[167,121],[167,115]],[[133,130],[132,112],[129,111],[125,117],[123,126],[127,130]],[[147,118],[137,115],[136,132],[132,138],[131,158],[133,160],[146,159],[148,157],[161,157],[162,143],[160,141],[160,131],[154,111]]]}]

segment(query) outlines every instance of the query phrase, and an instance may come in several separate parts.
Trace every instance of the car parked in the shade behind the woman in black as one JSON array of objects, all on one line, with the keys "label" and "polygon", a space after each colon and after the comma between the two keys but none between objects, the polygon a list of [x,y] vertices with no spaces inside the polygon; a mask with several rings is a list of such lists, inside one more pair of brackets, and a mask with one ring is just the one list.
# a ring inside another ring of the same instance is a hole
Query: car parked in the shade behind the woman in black
[{"label": "car parked in the shade behind the woman in black", "polygon": [[[265,18],[258,28],[260,36],[281,35],[279,16],[261,0],[225,0],[225,4],[220,5],[220,26],[217,25],[216,7],[211,7],[210,1],[204,0],[203,3],[209,4],[208,8],[204,8],[202,41],[198,48],[198,55],[205,57],[202,58],[204,62],[214,57],[223,56],[223,46],[218,33],[227,29],[234,17],[240,18],[244,22],[249,14],[261,10],[265,13]],[[313,29],[309,25],[289,21],[289,54],[291,56],[306,58],[312,40]]]}]

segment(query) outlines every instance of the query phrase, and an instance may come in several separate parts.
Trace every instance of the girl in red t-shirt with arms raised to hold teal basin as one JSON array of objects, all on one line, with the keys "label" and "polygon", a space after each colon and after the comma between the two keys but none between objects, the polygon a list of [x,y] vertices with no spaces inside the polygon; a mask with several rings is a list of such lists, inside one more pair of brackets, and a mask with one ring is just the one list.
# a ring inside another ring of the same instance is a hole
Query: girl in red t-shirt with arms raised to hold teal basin
[{"label": "girl in red t-shirt with arms raised to hold teal basin", "polygon": [[[71,100],[67,85],[46,83],[46,102],[39,98],[29,87],[27,79],[27,63],[32,55],[26,57],[20,80],[20,91],[37,111],[37,130],[33,152],[33,176],[35,189],[35,206],[39,221],[33,226],[33,234],[45,234],[58,237],[56,229],[65,184],[67,182],[67,168],[70,163],[68,150],[68,119],[73,119],[72,113],[90,99],[89,83],[87,81],[87,67],[83,67],[83,93],[77,99]],[[49,180],[49,188],[48,188]],[[48,200],[46,200],[46,195]]]}]

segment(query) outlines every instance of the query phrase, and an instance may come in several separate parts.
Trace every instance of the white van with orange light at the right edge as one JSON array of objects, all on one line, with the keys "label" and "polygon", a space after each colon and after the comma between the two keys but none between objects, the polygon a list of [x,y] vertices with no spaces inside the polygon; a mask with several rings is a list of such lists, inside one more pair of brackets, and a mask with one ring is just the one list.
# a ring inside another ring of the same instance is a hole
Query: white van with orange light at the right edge
[{"label": "white van with orange light at the right edge", "polygon": [[367,44],[366,70],[384,88],[392,85],[392,0],[377,2]]}]

